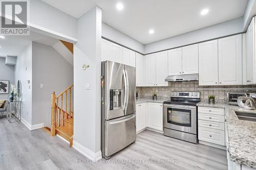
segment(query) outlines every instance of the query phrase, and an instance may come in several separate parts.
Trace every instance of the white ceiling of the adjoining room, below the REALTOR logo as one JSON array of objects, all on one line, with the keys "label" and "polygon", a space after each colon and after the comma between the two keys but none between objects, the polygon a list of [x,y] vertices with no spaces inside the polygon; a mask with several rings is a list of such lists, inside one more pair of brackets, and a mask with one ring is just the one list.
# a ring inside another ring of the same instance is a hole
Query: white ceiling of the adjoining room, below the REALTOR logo
[{"label": "white ceiling of the adjoining room, below the REALTOR logo", "polygon": [[57,39],[48,37],[39,33],[30,32],[29,36],[5,36],[5,39],[0,39],[0,57],[18,56],[20,52],[31,42],[35,41],[41,44],[54,45],[58,42]]}]

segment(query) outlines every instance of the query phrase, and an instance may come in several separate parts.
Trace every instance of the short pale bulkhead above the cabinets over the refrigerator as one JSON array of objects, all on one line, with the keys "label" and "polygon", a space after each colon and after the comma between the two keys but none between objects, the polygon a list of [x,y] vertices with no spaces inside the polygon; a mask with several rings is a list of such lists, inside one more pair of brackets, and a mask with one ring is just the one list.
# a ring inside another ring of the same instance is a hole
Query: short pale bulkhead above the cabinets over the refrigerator
[{"label": "short pale bulkhead above the cabinets over the refrigerator", "polygon": [[102,22],[102,37],[124,45],[131,50],[144,54],[144,45],[139,41],[121,33],[113,27]]}]

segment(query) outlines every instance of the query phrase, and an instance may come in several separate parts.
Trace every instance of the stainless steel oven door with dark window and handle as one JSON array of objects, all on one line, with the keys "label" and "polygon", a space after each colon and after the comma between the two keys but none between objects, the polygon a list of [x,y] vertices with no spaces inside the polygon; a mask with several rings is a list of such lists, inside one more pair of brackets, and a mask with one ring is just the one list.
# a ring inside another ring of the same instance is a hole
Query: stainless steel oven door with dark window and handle
[{"label": "stainless steel oven door with dark window and handle", "polygon": [[163,105],[163,127],[197,134],[197,107]]}]

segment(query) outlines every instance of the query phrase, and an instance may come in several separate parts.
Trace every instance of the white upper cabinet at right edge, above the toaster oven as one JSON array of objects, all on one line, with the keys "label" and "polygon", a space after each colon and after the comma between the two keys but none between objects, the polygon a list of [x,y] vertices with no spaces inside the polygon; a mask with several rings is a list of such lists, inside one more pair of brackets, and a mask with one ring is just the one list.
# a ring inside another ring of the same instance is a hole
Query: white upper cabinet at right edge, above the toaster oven
[{"label": "white upper cabinet at right edge, above the toaster oven", "polygon": [[254,40],[255,40],[255,20],[254,17],[246,32],[246,84],[255,84],[255,56],[254,56]]}]

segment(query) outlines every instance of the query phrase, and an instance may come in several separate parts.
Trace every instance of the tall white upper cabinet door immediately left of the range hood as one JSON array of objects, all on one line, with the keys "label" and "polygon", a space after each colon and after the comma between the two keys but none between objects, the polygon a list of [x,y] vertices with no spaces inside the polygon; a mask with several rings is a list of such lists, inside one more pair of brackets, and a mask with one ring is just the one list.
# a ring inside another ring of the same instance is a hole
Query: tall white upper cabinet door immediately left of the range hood
[{"label": "tall white upper cabinet door immediately left of the range hood", "polygon": [[156,56],[156,85],[168,86],[168,82],[165,82],[168,76],[168,52],[163,51],[157,53]]}]

